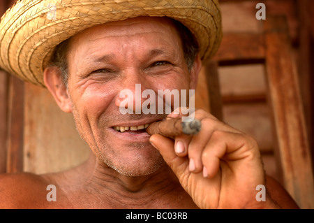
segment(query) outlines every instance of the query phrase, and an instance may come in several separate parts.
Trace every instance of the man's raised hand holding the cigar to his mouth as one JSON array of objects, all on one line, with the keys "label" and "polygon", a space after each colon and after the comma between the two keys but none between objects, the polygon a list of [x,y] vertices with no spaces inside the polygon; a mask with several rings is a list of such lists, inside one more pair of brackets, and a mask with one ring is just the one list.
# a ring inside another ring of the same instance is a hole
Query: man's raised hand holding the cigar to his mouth
[{"label": "man's raised hand holding the cigar to his mouth", "polygon": [[202,122],[197,135],[176,136],[174,141],[159,134],[150,138],[195,204],[199,208],[275,208],[269,196],[267,201],[255,199],[257,185],[265,185],[256,141],[204,110],[196,110],[195,119]]}]

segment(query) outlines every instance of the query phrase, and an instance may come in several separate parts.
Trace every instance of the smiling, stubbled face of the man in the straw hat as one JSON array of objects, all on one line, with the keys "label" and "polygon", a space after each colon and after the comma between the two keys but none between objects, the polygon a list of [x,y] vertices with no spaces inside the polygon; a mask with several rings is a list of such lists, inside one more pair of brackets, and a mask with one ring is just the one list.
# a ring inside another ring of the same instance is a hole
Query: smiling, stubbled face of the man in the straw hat
[{"label": "smiling, stubbled face of the man in the straw hat", "polygon": [[[166,115],[120,113],[123,89],[189,89],[181,40],[170,20],[137,17],[92,27],[70,40],[68,94],[77,130],[96,157],[124,175],[147,175],[163,164],[144,130],[119,132]],[[142,102],[146,99],[142,99]],[[135,104],[135,97],[134,97]],[[135,106],[133,106],[135,108]]]}]

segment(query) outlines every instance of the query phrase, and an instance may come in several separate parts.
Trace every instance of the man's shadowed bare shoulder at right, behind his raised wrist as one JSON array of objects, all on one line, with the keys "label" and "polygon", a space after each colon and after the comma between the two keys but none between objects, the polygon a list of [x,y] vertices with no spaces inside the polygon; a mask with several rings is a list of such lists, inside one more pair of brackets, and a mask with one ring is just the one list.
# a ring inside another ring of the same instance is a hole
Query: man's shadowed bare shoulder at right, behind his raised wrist
[{"label": "man's shadowed bare shoulder at right, behind his raised wrist", "polygon": [[292,199],[290,194],[287,193],[285,188],[274,178],[267,175],[266,185],[271,199],[278,203],[281,208],[294,209],[299,208],[297,203]]}]

